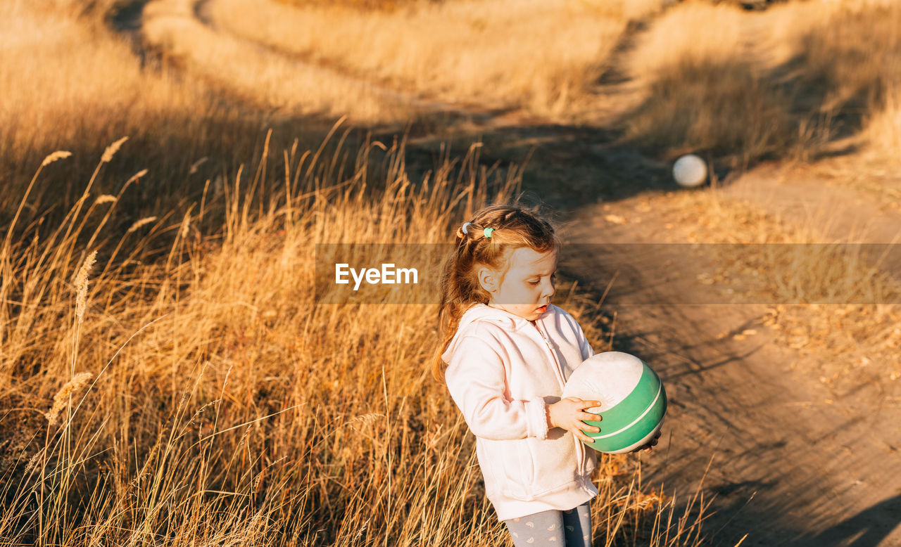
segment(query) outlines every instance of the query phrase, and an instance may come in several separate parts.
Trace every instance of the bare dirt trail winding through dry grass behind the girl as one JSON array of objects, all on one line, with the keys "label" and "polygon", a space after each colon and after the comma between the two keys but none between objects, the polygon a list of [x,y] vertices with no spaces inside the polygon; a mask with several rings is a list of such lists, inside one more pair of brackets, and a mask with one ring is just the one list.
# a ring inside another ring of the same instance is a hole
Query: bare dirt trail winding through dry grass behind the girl
[{"label": "bare dirt trail winding through dry grass behind the girl", "polygon": [[[194,15],[221,31],[210,17],[208,1],[194,4]],[[138,32],[134,22],[140,9],[128,15],[128,30]],[[632,31],[641,28],[634,25]],[[619,48],[621,54],[629,48],[628,38]],[[266,52],[278,55],[272,49]],[[371,88],[369,82],[359,84]],[[616,71],[602,85],[617,101],[631,100],[623,93],[628,82]],[[420,101],[392,90],[384,95]],[[424,100],[422,106],[461,110],[459,105]],[[617,103],[612,110],[622,106]],[[462,110],[470,125],[458,126],[453,135],[482,140],[487,162],[520,162],[525,150],[536,147],[524,186],[560,212],[560,220],[568,222],[565,237],[570,243],[662,241],[666,220],[653,211],[628,225],[612,224],[604,217],[634,218],[641,193],[675,190],[668,166],[633,149],[610,145],[614,135],[604,127],[567,127],[520,115]],[[412,140],[427,156],[430,143],[447,134]],[[816,210],[827,205],[833,194],[823,189],[822,181],[780,176],[778,166],[764,166],[725,192],[767,211],[797,215],[793,208]],[[863,193],[849,188],[834,195],[842,204],[839,213],[814,218],[836,220],[837,233],[872,220],[880,227],[875,237],[891,241],[901,229],[901,221],[893,216],[896,211],[886,210],[878,200],[857,202]],[[733,545],[748,534],[744,546],[901,545],[897,385],[851,380],[836,392],[809,373],[790,370],[797,356],[779,347],[769,329],[760,325],[764,306],[675,304],[672,299],[678,292],[672,283],[660,282],[641,268],[597,264],[590,253],[569,256],[560,267],[578,279],[580,287],[593,286],[598,297],[618,270],[628,269],[633,282],[642,286],[660,283],[651,289],[657,291],[654,305],[626,305],[613,299],[605,300],[602,311],[615,312],[614,348],[641,355],[666,382],[670,409],[665,435],[654,453],[641,456],[651,480],[662,482],[668,493],[676,489],[678,498],[685,500],[714,456],[704,485],[707,498],[716,495],[716,513],[705,526],[709,544]],[[691,285],[680,290],[690,291]],[[756,334],[732,336],[749,329]],[[727,336],[718,336],[722,333]]]}]

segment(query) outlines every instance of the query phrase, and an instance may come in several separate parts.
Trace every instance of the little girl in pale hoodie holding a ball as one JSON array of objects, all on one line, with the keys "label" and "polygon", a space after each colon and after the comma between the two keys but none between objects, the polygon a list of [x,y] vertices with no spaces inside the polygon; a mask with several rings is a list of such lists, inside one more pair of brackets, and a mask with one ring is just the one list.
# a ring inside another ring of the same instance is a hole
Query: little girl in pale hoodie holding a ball
[{"label": "little girl in pale hoodie holding a ball", "polygon": [[492,205],[457,230],[441,276],[433,372],[440,378],[447,363],[487,498],[516,547],[591,545],[597,457],[580,440],[599,429],[581,420],[599,420],[583,409],[601,402],[560,399],[595,354],[578,322],[551,304],[560,244],[533,211]]}]

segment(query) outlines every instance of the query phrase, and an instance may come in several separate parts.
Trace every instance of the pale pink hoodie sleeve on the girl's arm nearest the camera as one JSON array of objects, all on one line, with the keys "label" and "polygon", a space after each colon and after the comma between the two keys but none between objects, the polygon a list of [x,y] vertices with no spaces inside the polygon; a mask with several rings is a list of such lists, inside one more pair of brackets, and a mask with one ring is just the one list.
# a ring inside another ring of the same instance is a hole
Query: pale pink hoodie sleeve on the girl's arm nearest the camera
[{"label": "pale pink hoodie sleeve on the girl's arm nearest the camera", "polygon": [[501,355],[478,336],[464,336],[444,372],[451,397],[473,435],[493,440],[548,436],[548,418],[541,397],[504,398],[505,374]]}]

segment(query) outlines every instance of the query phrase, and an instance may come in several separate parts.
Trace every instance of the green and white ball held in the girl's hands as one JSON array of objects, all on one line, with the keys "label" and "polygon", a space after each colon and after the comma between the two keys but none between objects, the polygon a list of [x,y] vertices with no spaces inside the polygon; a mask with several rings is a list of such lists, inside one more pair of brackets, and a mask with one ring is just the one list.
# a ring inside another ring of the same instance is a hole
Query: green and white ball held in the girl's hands
[{"label": "green and white ball held in the girl's hands", "polygon": [[667,392],[660,376],[648,363],[623,352],[588,357],[569,375],[563,397],[602,402],[585,411],[603,419],[584,420],[601,431],[583,433],[595,440],[588,446],[608,454],[632,452],[651,442],[667,412]]}]

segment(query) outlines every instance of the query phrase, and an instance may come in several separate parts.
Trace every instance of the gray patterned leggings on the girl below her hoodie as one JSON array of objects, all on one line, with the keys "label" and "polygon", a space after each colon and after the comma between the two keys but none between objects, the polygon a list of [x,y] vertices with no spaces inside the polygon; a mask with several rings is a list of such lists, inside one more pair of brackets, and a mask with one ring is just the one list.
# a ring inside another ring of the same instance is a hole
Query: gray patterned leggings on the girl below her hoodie
[{"label": "gray patterned leggings on the girl below her hoodie", "polygon": [[588,502],[566,511],[542,511],[505,520],[515,547],[591,547]]}]

